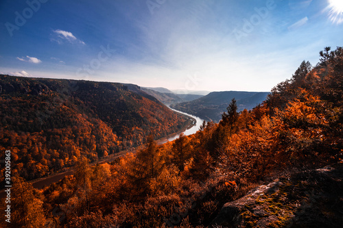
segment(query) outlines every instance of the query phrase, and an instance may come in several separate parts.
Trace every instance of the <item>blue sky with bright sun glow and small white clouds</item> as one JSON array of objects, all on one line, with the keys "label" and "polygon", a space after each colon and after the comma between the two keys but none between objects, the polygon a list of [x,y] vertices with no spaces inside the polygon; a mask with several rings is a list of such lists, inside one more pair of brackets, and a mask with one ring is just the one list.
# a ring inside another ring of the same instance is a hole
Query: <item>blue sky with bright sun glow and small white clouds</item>
[{"label": "blue sky with bright sun glow and small white clouds", "polygon": [[0,0],[0,73],[268,92],[342,35],[342,0]]}]

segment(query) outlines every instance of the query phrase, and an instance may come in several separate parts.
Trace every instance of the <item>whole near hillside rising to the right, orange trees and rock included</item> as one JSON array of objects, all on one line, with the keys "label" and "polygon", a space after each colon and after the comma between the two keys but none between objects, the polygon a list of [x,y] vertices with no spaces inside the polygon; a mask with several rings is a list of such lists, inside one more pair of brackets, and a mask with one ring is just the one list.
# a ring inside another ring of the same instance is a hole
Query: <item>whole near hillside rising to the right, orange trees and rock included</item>
[{"label": "whole near hillside rising to the right, orange trees and rock included", "polygon": [[43,190],[14,177],[11,227],[342,227],[343,48],[320,57],[196,134],[150,136],[110,164],[82,157]]}]

